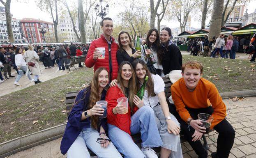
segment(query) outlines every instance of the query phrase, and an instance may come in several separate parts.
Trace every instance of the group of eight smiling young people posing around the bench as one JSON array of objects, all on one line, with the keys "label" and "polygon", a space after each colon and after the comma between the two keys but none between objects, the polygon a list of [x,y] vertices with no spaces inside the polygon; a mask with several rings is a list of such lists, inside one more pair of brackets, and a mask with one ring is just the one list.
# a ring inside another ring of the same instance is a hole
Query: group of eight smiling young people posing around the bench
[{"label": "group of eight smiling young people posing around the bench", "polygon": [[[198,113],[214,117],[211,129],[219,133],[217,152],[213,158],[228,158],[235,139],[233,127],[226,121],[226,105],[217,88],[202,78],[203,66],[197,61],[182,64],[182,55],[171,40],[171,29],[149,30],[141,50],[126,31],[118,35],[118,44],[111,36],[113,21],[103,18],[103,34],[92,41],[85,59],[87,67],[94,66],[90,84],[78,92],[60,145],[67,158],[90,158],[88,149],[99,158],[158,158],[153,147],[161,147],[161,158],[182,158],[180,131],[199,158],[208,153],[200,142],[206,128],[198,121]],[[146,47],[146,45],[147,47]],[[136,47],[137,48],[137,47]],[[105,56],[102,57],[103,51]],[[156,63],[150,63],[149,57]],[[171,86],[173,106],[170,112],[161,78],[180,71],[181,78]],[[137,92],[145,78],[145,93]],[[109,84],[110,83],[110,84]],[[107,89],[106,87],[110,85]],[[198,100],[198,96],[200,99]],[[126,106],[121,97],[127,98]],[[107,117],[97,101],[107,101]],[[141,149],[131,135],[141,133]]]}]

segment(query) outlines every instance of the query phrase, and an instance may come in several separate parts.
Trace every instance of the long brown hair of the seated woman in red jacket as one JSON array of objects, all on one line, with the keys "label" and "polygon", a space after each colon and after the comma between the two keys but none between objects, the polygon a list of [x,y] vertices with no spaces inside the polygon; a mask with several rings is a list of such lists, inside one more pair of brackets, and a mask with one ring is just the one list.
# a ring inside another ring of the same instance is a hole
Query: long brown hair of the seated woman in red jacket
[{"label": "long brown hair of the seated woman in red jacket", "polygon": [[[127,61],[124,61],[119,65],[117,83],[119,84],[120,89],[122,90],[122,93],[125,94],[125,96],[126,96],[125,85],[123,83],[123,78],[122,78],[122,67],[125,64],[128,64],[131,66],[131,63],[127,62]],[[134,98],[135,94],[137,93],[136,77],[135,76],[136,76],[136,74],[134,73],[134,69],[131,66],[131,78],[128,83],[129,96],[126,96],[129,100],[129,105],[130,105],[131,111],[133,111],[133,108],[134,108],[133,98]]]}]

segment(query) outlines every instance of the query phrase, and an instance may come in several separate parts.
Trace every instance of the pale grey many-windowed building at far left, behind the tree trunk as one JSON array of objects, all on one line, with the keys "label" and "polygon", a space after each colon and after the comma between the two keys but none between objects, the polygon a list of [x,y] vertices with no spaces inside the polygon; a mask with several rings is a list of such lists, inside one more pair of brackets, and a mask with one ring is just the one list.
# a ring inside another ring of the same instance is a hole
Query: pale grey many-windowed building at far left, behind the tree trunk
[{"label": "pale grey many-windowed building at far left, behind the tree trunk", "polygon": [[[21,30],[21,24],[15,18],[12,18],[12,31],[14,35],[14,42],[22,43],[23,34]],[[5,7],[0,7],[0,43],[9,43],[7,25],[6,25]]]}]

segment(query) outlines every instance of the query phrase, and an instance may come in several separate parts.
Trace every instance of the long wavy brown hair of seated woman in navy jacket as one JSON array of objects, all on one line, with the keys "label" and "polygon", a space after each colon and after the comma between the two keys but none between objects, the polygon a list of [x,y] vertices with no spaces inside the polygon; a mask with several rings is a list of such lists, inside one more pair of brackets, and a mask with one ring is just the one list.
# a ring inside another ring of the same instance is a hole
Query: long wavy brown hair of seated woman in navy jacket
[{"label": "long wavy brown hair of seated woman in navy jacket", "polygon": [[[74,103],[74,105],[76,105],[80,101],[83,101],[88,92],[90,93],[90,98],[89,98],[89,101],[88,101],[87,108],[84,107],[84,109],[83,109],[84,111],[93,108],[95,103],[100,100],[100,96],[99,96],[99,73],[101,73],[101,71],[104,71],[104,70],[107,71],[106,68],[99,67],[94,72],[94,75],[92,77],[92,81],[90,82],[90,84],[87,87],[85,87],[85,88],[87,88],[87,90],[85,90],[85,92],[83,93],[83,98],[80,99],[79,101],[76,101]],[[73,105],[73,107],[74,107],[74,105]],[[97,129],[98,126],[99,126],[99,116],[93,115],[90,118],[91,118],[92,127]]]}]

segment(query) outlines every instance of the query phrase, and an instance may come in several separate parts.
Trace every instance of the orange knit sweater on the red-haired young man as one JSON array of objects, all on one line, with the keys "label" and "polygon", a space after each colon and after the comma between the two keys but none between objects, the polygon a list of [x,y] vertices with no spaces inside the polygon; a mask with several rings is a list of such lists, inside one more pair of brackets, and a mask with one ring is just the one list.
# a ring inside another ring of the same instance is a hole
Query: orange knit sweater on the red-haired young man
[{"label": "orange knit sweater on the red-haired young man", "polygon": [[214,112],[212,113],[211,129],[226,117],[226,105],[223,103],[217,88],[212,82],[204,78],[200,78],[194,92],[189,92],[184,79],[180,78],[171,86],[171,94],[176,110],[185,122],[191,118],[185,107],[198,109],[212,105]]}]

